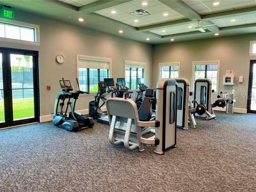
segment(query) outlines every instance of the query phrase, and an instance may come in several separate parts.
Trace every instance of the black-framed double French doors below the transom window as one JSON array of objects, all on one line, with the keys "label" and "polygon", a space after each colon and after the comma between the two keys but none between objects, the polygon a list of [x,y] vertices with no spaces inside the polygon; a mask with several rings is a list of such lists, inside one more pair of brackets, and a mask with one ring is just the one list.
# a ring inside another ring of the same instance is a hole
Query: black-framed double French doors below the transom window
[{"label": "black-framed double French doors below the transom window", "polygon": [[39,120],[38,52],[0,48],[0,128]]}]

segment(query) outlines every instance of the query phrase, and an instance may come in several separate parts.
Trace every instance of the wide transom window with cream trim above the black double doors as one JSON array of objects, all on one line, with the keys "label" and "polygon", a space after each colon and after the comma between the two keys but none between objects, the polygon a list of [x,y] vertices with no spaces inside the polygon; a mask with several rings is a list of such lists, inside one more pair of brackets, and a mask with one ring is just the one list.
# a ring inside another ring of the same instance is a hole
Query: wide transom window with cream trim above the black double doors
[{"label": "wide transom window with cream trim above the black double doors", "polygon": [[39,45],[39,26],[0,18],[0,40]]}]

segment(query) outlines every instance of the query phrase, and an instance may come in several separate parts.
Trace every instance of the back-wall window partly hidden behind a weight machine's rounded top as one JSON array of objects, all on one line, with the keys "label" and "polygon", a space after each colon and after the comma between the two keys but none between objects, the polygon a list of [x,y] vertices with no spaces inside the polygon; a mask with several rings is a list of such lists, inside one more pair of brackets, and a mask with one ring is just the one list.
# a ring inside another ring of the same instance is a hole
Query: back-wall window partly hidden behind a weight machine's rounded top
[{"label": "back-wall window partly hidden behind a weight machine's rounded top", "polygon": [[[193,82],[199,78],[208,78],[212,81],[212,89],[218,91],[219,61],[198,61],[193,62]],[[194,83],[193,83],[194,84]]]}]

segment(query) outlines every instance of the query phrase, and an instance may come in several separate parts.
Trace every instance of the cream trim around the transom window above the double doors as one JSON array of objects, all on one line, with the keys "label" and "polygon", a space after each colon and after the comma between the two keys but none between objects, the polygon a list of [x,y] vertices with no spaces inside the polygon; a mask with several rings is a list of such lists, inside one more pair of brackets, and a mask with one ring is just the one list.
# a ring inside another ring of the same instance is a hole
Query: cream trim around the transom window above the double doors
[{"label": "cream trim around the transom window above the double doors", "polygon": [[10,24],[10,25],[17,25],[17,26],[34,28],[35,29],[34,36],[36,38],[35,42],[30,42],[30,41],[16,40],[16,39],[0,37],[0,41],[9,42],[9,43],[26,44],[26,45],[32,45],[32,46],[40,46],[40,27],[39,27],[39,25],[20,22],[20,21],[16,21],[16,20],[5,19],[5,18],[0,18],[0,22],[5,23],[5,24]]}]

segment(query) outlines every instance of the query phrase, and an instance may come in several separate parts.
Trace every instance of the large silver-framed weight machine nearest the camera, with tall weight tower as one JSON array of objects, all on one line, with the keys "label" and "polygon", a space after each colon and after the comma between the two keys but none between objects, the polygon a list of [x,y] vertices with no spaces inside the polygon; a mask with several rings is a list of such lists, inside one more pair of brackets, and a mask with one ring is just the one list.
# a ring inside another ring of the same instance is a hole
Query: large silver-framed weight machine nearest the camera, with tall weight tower
[{"label": "large silver-framed weight machine nearest the camera, with tall weight tower", "polygon": [[[156,85],[156,120],[153,121],[139,119],[136,103],[127,97],[132,91],[127,91],[124,98],[111,97],[107,99],[110,143],[114,145],[124,143],[129,150],[138,147],[140,152],[144,151],[144,144],[154,145],[154,152],[157,154],[164,154],[167,149],[175,147],[177,90],[178,85],[174,79],[158,81]],[[146,138],[145,135],[151,129],[155,129],[155,135]]]}]

